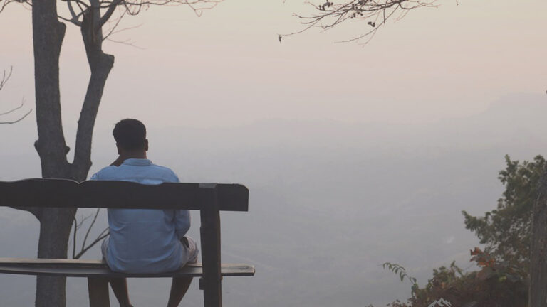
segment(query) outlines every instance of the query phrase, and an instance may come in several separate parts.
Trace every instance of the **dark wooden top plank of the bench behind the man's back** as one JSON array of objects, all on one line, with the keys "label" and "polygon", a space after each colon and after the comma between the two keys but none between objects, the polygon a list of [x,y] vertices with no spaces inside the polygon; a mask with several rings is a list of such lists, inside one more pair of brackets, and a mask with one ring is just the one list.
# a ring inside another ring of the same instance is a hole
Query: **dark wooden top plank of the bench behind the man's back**
[{"label": "dark wooden top plank of the bench behind the man's back", "polygon": [[9,207],[202,210],[215,201],[221,211],[247,211],[249,190],[244,185],[222,183],[142,185],[41,178],[0,181],[0,206]]}]

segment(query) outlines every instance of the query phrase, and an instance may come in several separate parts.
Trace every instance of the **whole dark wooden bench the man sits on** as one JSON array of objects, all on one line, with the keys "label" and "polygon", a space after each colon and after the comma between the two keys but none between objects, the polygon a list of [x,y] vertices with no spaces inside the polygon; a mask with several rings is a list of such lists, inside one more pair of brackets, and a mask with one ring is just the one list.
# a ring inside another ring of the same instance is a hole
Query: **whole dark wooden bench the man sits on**
[{"label": "whole dark wooden bench the man sits on", "polygon": [[[123,274],[100,261],[0,258],[0,273],[87,277],[90,307],[110,306],[112,277],[199,277],[205,307],[222,306],[222,276],[253,276],[254,266],[221,264],[220,211],[248,211],[249,190],[239,184],[27,179],[0,181],[0,206],[199,210],[202,264],[162,274]],[[1,303],[0,303],[1,305]]]}]

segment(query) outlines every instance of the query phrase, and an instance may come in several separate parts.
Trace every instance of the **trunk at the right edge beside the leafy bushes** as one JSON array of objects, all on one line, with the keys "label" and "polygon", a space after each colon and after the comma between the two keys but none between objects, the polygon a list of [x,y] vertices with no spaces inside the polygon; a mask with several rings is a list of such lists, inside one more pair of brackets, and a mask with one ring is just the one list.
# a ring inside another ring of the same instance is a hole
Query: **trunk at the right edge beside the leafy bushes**
[{"label": "trunk at the right edge beside the leafy bushes", "polygon": [[547,172],[538,184],[533,204],[528,307],[547,307]]}]

